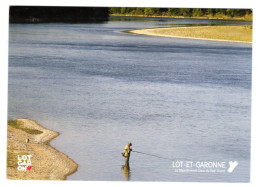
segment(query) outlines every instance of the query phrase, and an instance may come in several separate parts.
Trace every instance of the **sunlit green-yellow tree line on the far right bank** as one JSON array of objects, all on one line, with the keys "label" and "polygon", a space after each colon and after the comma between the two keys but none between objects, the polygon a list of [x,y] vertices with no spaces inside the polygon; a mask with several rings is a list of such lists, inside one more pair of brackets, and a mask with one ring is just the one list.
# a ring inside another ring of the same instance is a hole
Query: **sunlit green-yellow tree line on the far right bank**
[{"label": "sunlit green-yellow tree line on the far right bank", "polygon": [[182,17],[244,17],[252,15],[251,9],[212,9],[212,8],[109,8],[110,15],[131,16],[182,16]]}]

